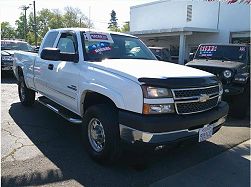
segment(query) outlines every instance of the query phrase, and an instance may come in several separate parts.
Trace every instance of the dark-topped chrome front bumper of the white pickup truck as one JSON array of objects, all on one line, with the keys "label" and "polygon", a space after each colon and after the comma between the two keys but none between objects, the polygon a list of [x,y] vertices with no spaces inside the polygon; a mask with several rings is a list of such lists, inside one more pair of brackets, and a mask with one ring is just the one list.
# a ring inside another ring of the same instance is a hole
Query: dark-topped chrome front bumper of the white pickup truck
[{"label": "dark-topped chrome front bumper of the white pickup truck", "polygon": [[120,137],[130,143],[168,144],[197,136],[199,129],[208,125],[213,125],[215,133],[225,122],[227,113],[226,102],[209,111],[189,115],[143,116],[120,111]]}]

